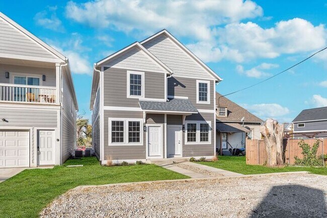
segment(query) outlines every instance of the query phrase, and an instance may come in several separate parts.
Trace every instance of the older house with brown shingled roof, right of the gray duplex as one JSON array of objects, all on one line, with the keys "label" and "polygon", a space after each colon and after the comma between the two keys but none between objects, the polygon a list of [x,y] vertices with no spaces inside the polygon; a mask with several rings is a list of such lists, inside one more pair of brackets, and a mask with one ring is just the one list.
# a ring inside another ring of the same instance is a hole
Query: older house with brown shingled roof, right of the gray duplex
[{"label": "older house with brown shingled roof, right of the gray duplex", "polygon": [[233,149],[245,148],[246,137],[261,139],[259,128],[263,120],[243,107],[216,93],[216,148],[231,155]]}]

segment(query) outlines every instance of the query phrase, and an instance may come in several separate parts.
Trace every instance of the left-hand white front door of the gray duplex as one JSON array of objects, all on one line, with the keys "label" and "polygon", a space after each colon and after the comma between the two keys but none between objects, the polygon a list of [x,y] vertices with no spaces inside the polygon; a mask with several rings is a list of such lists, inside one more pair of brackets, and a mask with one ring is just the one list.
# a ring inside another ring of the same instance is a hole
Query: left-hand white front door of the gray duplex
[{"label": "left-hand white front door of the gray duplex", "polygon": [[148,137],[147,137],[147,146],[149,158],[160,158],[162,157],[162,130],[161,126],[148,126]]}]

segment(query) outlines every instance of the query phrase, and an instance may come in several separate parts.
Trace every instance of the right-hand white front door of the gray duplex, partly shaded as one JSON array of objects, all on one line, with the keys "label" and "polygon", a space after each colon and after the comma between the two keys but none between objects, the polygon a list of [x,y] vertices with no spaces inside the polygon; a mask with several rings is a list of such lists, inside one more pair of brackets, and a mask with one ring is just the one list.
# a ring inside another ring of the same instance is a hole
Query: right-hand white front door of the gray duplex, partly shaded
[{"label": "right-hand white front door of the gray duplex, partly shaded", "polygon": [[167,157],[182,156],[182,126],[167,126]]}]

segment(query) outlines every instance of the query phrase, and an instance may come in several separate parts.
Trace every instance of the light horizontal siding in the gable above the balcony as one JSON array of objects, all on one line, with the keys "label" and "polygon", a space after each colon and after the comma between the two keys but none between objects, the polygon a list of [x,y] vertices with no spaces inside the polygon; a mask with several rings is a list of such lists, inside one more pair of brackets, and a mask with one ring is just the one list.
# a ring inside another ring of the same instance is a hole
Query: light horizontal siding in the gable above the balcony
[{"label": "light horizontal siding in the gable above the balcony", "polygon": [[2,18],[0,18],[0,53],[53,58],[49,51]]}]

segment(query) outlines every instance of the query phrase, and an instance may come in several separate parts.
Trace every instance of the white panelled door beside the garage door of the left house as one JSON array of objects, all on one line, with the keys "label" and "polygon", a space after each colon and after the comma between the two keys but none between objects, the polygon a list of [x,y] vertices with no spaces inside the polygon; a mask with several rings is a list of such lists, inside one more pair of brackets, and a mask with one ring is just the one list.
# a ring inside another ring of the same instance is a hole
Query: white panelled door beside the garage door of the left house
[{"label": "white panelled door beside the garage door of the left house", "polygon": [[54,165],[54,131],[39,130],[38,165]]}]

